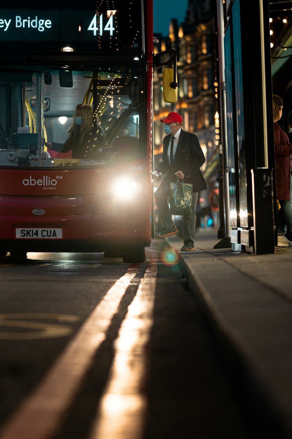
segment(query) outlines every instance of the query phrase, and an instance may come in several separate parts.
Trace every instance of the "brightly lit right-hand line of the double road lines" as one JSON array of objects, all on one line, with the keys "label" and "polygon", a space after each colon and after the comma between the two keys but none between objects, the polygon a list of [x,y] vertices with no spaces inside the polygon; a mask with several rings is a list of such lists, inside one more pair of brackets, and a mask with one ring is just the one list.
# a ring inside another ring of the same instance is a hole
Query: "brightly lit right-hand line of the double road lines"
[{"label": "brightly lit right-hand line of the double road lines", "polygon": [[89,439],[141,439],[147,399],[144,395],[146,346],[153,325],[157,278],[156,263],[149,262],[137,295],[115,343],[116,355]]}]

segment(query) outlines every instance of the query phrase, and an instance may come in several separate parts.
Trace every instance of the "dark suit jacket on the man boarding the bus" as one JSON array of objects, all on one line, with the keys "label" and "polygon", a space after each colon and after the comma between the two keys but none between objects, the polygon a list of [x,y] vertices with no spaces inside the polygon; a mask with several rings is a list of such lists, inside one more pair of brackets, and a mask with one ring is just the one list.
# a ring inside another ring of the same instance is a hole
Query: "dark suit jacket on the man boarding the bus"
[{"label": "dark suit jacket on the man boarding the bus", "polygon": [[162,162],[159,163],[158,167],[155,169],[158,173],[161,172],[162,174],[169,171],[162,184],[167,185],[169,182],[176,183],[177,178],[174,174],[177,171],[182,171],[184,174],[184,183],[193,184],[193,192],[204,191],[204,189],[207,189],[204,177],[200,170],[205,162],[205,157],[197,136],[181,130],[172,167],[170,167],[167,158],[170,137],[171,135],[168,134],[163,139]]}]

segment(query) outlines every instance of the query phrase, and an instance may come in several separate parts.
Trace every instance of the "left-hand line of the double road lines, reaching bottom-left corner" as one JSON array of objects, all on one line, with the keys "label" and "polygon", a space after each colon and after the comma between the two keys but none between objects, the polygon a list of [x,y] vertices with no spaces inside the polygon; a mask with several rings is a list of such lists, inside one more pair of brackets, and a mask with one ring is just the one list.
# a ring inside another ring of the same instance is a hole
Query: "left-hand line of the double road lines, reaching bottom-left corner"
[{"label": "left-hand line of the double road lines, reaching bottom-left corner", "polygon": [[62,421],[139,264],[109,289],[39,386],[4,424],[0,439],[49,439]]}]

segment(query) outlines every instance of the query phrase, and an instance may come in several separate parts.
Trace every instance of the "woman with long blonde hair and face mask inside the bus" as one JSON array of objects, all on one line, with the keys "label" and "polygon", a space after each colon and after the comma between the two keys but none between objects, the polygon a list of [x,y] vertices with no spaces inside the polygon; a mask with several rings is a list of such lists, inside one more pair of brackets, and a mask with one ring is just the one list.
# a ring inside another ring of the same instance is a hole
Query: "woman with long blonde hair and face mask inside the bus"
[{"label": "woman with long blonde hair and face mask inside the bus", "polygon": [[[98,116],[97,116],[98,117]],[[89,160],[101,160],[98,149],[108,146],[106,135],[102,126],[98,123],[98,128],[93,135],[93,110],[91,105],[77,104],[73,122],[68,129],[69,137],[64,144],[46,142],[48,149],[57,152],[68,152],[72,150],[72,158],[84,158]],[[102,158],[104,160],[104,158]]]}]

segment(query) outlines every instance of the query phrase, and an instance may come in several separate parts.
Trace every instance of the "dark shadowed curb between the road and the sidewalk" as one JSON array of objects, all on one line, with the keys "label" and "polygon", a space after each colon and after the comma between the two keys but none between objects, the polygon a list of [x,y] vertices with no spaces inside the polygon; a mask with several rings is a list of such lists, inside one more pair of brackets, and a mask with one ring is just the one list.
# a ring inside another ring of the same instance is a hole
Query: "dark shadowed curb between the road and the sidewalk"
[{"label": "dark shadowed curb between the road and the sidewalk", "polygon": [[[171,245],[171,243],[169,243]],[[245,400],[249,416],[258,428],[258,437],[291,439],[292,420],[283,414],[283,404],[271,396],[261,374],[262,368],[254,358],[244,338],[225,320],[211,295],[187,263],[187,255],[180,252],[179,264],[193,296],[207,317],[212,333],[223,354],[223,361],[234,385]],[[282,406],[282,407],[281,407]]]}]

